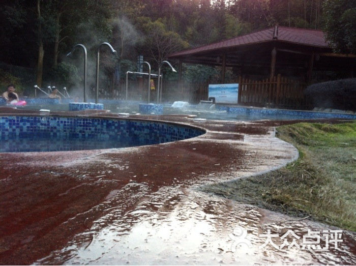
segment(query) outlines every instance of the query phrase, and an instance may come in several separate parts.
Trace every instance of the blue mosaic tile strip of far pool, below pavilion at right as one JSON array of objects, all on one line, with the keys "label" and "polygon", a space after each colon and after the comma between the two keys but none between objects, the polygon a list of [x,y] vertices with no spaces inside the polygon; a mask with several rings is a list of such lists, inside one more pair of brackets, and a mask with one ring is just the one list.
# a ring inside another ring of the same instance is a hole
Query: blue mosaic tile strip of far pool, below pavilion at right
[{"label": "blue mosaic tile strip of far pool, below pavilion at right", "polygon": [[300,119],[356,119],[356,114],[346,113],[328,113],[328,112],[314,112],[314,111],[301,111],[301,110],[284,110],[284,109],[264,109],[264,108],[249,108],[241,106],[225,106],[217,105],[221,111],[229,113],[250,115],[250,116],[293,116]]}]

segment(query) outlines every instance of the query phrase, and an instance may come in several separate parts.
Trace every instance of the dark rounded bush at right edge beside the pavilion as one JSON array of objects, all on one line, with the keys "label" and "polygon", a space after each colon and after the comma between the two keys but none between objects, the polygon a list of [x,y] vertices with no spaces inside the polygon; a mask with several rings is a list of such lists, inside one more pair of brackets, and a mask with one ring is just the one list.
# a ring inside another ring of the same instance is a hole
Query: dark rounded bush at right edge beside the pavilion
[{"label": "dark rounded bush at right edge beside the pavilion", "polygon": [[356,78],[310,85],[305,96],[314,107],[356,111]]}]

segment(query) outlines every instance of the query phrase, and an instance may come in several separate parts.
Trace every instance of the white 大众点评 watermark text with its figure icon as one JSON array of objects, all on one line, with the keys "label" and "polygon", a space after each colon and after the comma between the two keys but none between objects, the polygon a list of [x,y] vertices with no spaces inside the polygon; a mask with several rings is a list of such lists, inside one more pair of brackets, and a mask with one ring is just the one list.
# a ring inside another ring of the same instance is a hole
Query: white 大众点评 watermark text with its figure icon
[{"label": "white \u5927\u4f17\u70b9\u8bc4 watermark text with its figure icon", "polygon": [[[233,233],[229,234],[229,237],[234,240],[231,245],[232,252],[236,251],[236,247],[239,244],[246,244],[249,248],[252,248],[251,241],[247,239],[247,230],[241,226],[236,226]],[[265,240],[264,243],[258,247],[259,249],[271,245],[278,250],[290,249],[292,247],[308,250],[338,249],[338,244],[343,242],[341,239],[342,230],[322,230],[320,232],[308,229],[308,232],[300,237],[291,229],[288,229],[282,235],[271,233],[271,229],[267,229],[266,233],[259,234],[259,238]],[[277,242],[282,244],[276,244]]]}]

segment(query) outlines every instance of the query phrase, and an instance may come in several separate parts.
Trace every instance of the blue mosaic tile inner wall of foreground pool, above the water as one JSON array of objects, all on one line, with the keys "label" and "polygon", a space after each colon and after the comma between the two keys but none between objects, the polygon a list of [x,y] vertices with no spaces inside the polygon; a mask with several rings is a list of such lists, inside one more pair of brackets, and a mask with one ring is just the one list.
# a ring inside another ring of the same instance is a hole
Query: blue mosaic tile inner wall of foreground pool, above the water
[{"label": "blue mosaic tile inner wall of foreground pool, above the water", "polygon": [[[188,125],[144,120],[104,119],[64,116],[0,116],[0,152],[18,139],[89,139],[132,143],[124,146],[151,145],[192,138],[205,130]],[[5,144],[4,144],[5,143]],[[115,146],[113,146],[115,147]],[[122,146],[116,146],[122,147]]]}]

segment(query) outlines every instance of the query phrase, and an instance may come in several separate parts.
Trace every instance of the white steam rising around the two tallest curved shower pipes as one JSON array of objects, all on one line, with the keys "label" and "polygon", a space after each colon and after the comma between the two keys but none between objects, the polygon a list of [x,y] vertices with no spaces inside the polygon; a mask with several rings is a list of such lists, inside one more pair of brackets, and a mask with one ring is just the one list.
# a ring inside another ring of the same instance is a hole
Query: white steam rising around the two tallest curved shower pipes
[{"label": "white steam rising around the two tallest curved shower pipes", "polygon": [[[113,36],[109,40],[107,36]],[[136,28],[126,17],[116,18],[111,21],[111,28],[103,28],[98,30],[94,21],[81,23],[77,26],[77,35],[74,43],[81,43],[87,49],[87,98],[94,98],[94,88],[96,86],[96,61],[97,61],[97,47],[103,42],[109,42],[113,48],[118,52],[117,56],[112,56],[107,51],[107,47],[100,51],[99,63],[99,91],[110,96],[109,86],[111,84],[112,73],[115,71],[118,58],[126,58],[130,54],[134,54],[134,45],[142,40],[141,35],[137,32]],[[83,97],[83,52],[79,49],[74,52],[74,58],[67,59],[68,62],[75,65],[78,69],[76,77],[75,73],[69,77],[69,81],[74,83],[70,88],[70,96],[77,98],[79,101]],[[134,58],[131,58],[135,60]],[[74,82],[73,82],[74,81]]]}]

